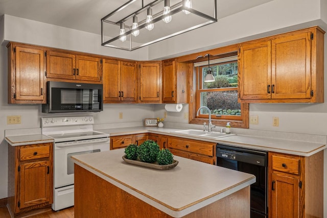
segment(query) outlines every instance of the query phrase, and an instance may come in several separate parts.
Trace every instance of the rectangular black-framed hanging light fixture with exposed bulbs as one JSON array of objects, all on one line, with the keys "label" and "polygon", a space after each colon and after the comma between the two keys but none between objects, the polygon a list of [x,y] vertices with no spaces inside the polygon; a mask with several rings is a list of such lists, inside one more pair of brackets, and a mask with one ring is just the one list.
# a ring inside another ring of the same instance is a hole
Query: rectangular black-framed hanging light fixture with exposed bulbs
[{"label": "rectangular black-framed hanging light fixture with exposed bulbs", "polygon": [[194,7],[192,0],[123,2],[101,18],[103,46],[133,51],[217,22],[217,0],[198,1]]}]

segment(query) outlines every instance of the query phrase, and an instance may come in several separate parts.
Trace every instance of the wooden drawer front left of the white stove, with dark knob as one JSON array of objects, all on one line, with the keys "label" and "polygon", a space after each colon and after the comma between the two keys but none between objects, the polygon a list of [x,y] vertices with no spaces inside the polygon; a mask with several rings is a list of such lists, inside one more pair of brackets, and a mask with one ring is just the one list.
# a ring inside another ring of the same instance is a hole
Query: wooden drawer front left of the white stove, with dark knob
[{"label": "wooden drawer front left of the white stove, with dark knob", "polygon": [[50,156],[50,144],[33,144],[31,146],[21,146],[19,149],[19,160],[33,160]]}]

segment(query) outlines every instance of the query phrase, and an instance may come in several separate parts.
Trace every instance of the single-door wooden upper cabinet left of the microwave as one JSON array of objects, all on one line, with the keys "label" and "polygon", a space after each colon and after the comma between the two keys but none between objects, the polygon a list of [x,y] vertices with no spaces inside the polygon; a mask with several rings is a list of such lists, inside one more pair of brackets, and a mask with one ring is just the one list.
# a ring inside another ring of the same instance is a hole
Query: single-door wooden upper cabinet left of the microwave
[{"label": "single-door wooden upper cabinet left of the microwave", "polygon": [[8,103],[45,103],[45,57],[38,46],[8,44]]}]

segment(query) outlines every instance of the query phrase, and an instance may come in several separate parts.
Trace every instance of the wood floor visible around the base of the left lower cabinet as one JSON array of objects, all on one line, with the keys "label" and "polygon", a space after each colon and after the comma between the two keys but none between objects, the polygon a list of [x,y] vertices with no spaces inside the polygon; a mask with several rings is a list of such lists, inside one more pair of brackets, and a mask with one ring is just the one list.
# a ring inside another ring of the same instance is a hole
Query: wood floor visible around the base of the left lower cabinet
[{"label": "wood floor visible around the base of the left lower cabinet", "polygon": [[[10,218],[7,207],[0,207],[0,217]],[[69,207],[60,211],[49,210],[37,215],[28,216],[29,218],[73,218],[74,217],[74,207]]]}]

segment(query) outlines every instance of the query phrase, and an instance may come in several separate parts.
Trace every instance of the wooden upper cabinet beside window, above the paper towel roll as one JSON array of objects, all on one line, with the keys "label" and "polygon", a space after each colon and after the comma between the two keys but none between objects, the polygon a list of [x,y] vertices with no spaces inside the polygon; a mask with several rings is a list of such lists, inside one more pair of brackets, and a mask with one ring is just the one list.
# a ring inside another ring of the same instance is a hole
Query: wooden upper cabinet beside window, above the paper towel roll
[{"label": "wooden upper cabinet beside window, above the paper towel roll", "polygon": [[188,103],[188,66],[175,60],[162,62],[162,103]]}]

